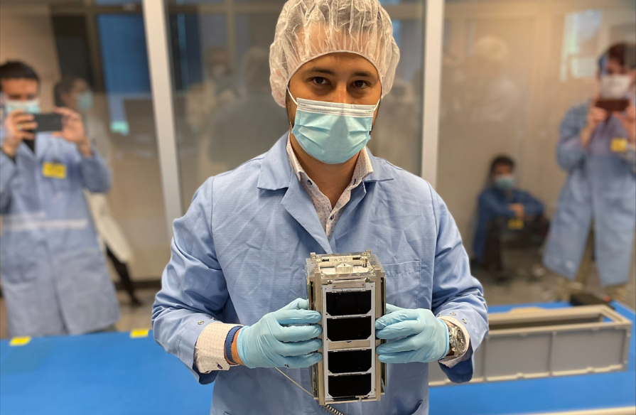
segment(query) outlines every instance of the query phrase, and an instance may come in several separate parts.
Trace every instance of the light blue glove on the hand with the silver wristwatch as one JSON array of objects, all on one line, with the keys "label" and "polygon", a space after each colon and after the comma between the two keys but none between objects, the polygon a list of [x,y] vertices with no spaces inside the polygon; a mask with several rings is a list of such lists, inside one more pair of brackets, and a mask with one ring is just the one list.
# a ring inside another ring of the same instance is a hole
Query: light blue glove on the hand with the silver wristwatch
[{"label": "light blue glove on the hand with the silver wristwatch", "polygon": [[377,347],[380,362],[436,362],[448,354],[448,325],[430,310],[387,304],[387,314],[375,321],[375,336],[397,339]]}]

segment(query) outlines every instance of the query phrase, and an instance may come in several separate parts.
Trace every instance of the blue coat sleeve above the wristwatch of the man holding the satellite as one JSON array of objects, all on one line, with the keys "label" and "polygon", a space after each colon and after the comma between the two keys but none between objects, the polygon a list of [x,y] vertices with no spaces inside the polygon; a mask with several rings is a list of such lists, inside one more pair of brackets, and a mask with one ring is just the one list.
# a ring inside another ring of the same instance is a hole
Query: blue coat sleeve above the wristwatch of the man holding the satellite
[{"label": "blue coat sleeve above the wristwatch of the man holding the satellite", "polygon": [[430,190],[437,225],[432,311],[438,317],[455,318],[470,335],[463,361],[453,367],[440,367],[452,382],[468,382],[473,377],[473,355],[488,333],[487,306],[481,284],[470,275],[468,255],[455,220],[439,195]]}]

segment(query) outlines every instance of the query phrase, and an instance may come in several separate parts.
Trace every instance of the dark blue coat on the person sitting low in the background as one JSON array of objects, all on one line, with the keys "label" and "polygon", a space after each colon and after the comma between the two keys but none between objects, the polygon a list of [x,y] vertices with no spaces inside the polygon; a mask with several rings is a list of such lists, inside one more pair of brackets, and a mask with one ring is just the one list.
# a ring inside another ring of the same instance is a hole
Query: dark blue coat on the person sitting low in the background
[{"label": "dark blue coat on the person sitting low in the background", "polygon": [[506,193],[500,189],[490,187],[479,195],[478,200],[478,222],[475,240],[473,242],[473,252],[480,261],[484,257],[488,226],[495,217],[505,217],[512,219],[516,216],[514,210],[510,210],[508,205],[521,203],[524,205],[526,215],[541,215],[544,210],[543,203],[532,197],[530,193],[519,189],[510,190],[510,199]]}]

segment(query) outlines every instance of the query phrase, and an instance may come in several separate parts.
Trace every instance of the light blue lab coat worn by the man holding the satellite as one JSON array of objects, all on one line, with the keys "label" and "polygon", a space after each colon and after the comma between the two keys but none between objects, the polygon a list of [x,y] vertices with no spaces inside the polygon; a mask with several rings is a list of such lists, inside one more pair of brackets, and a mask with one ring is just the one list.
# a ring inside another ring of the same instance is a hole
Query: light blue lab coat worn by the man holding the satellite
[{"label": "light blue lab coat worn by the man holding the satellite", "polygon": [[[275,369],[241,366],[200,374],[193,368],[195,343],[207,324],[254,324],[294,298],[307,298],[304,266],[311,252],[371,249],[386,270],[387,301],[465,320],[470,355],[488,330],[482,288],[470,276],[451,214],[428,183],[370,156],[374,172],[352,190],[328,240],[292,173],[286,137],[264,156],[208,179],[174,223],[172,257],[153,307],[153,335],[199,382],[216,379],[214,415],[325,414]],[[442,368],[456,382],[473,374],[470,358]],[[286,373],[311,389],[310,369]],[[389,365],[388,377],[382,401],[342,404],[340,410],[347,415],[428,413],[428,365]]]}]

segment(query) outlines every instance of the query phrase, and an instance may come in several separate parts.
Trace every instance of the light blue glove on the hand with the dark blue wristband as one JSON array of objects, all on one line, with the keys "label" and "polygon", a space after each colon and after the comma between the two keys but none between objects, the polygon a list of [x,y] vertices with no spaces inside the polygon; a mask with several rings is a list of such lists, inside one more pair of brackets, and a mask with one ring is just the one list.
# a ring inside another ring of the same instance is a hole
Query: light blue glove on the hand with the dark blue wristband
[{"label": "light blue glove on the hand with the dark blue wristband", "polygon": [[[315,353],[323,342],[317,339],[323,328],[318,311],[308,310],[302,298],[279,311],[267,313],[254,325],[241,328],[237,338],[239,359],[254,367],[310,367],[323,358]],[[308,324],[308,325],[289,325]]]}]

